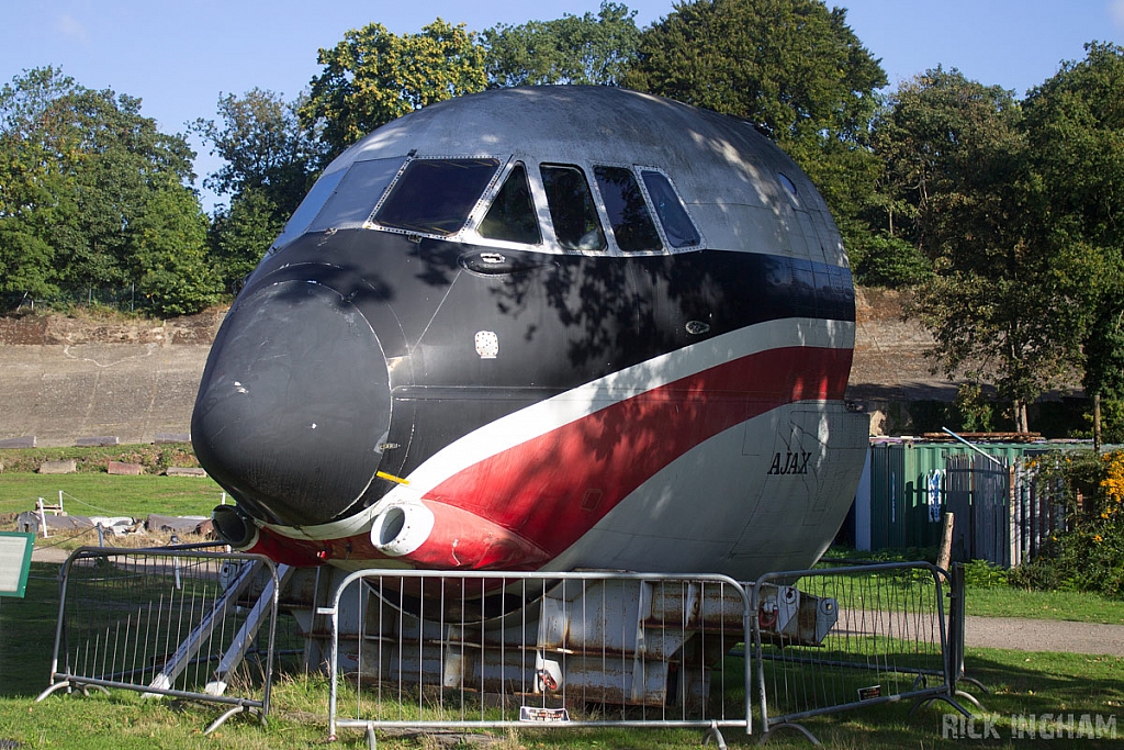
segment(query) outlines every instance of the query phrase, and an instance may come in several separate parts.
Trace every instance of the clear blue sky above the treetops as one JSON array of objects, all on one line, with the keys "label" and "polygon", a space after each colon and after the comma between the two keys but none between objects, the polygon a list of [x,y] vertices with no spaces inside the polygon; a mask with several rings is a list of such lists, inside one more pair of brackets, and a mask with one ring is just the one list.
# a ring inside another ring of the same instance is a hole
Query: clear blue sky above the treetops
[{"label": "clear blue sky above the treetops", "polygon": [[[641,26],[671,0],[625,1]],[[927,67],[1023,96],[1063,60],[1097,39],[1124,44],[1124,0],[828,0],[876,57],[890,84]],[[564,13],[596,12],[599,0],[0,0],[0,81],[54,65],[82,85],[139,97],[162,130],[214,118],[220,94],[257,87],[292,98],[319,72],[316,53],[378,21],[396,34],[436,17],[482,30]],[[315,9],[314,9],[315,8]],[[201,144],[196,171],[217,169]],[[205,205],[210,204],[205,197]]]}]

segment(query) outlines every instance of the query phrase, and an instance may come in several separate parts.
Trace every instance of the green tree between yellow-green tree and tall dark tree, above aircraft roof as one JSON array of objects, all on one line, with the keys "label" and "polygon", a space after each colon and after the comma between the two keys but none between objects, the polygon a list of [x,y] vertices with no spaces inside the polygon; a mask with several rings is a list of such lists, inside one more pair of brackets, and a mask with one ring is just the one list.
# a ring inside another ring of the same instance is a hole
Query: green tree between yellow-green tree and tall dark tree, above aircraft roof
[{"label": "green tree between yellow-green tree and tall dark tree, above aircraft roof", "polygon": [[481,35],[489,85],[617,85],[636,55],[635,17],[627,6],[605,0],[597,16],[495,26]]}]

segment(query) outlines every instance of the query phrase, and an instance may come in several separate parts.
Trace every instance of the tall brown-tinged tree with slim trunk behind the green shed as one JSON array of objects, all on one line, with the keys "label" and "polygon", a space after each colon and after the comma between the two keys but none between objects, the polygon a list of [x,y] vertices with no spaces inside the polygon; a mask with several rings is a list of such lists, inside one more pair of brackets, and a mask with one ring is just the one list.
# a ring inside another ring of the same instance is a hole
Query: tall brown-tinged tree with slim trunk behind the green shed
[{"label": "tall brown-tinged tree with slim trunk behind the green shed", "polygon": [[1080,367],[1095,259],[1040,219],[1014,96],[958,71],[903,84],[873,136],[909,206],[899,233],[936,275],[915,313],[950,377],[994,383],[1026,431],[1026,404]]}]

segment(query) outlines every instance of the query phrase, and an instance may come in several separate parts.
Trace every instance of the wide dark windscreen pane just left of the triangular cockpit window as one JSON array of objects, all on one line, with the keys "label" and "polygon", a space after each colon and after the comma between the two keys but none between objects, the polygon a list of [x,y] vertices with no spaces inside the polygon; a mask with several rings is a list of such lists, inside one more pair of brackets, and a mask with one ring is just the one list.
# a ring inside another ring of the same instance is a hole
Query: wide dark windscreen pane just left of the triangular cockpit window
[{"label": "wide dark windscreen pane just left of the triangular cockpit window", "polygon": [[455,234],[498,169],[495,159],[418,159],[406,165],[371,218],[407,232]]}]

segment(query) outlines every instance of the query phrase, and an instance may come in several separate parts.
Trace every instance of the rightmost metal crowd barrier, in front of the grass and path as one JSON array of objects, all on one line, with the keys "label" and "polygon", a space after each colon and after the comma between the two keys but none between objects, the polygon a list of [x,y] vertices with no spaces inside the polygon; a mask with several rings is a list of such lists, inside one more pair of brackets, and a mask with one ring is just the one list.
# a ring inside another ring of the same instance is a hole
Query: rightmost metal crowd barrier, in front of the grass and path
[{"label": "rightmost metal crowd barrier, in front of the grass and path", "polygon": [[[765,735],[788,726],[815,741],[801,719],[903,699],[941,699],[970,715],[954,699],[962,645],[949,648],[944,576],[905,562],[759,578],[752,644]],[[778,618],[807,618],[809,597],[823,615],[815,638],[778,627]],[[953,636],[960,641],[962,631]]]}]

